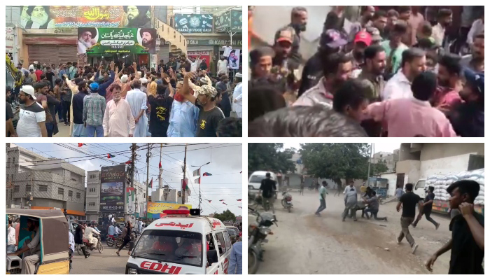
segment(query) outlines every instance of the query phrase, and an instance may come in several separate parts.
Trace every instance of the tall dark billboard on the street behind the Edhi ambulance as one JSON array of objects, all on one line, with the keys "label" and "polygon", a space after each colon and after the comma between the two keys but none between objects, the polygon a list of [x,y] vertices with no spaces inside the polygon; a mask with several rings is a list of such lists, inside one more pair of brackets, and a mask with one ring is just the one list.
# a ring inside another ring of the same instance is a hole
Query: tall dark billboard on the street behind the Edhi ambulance
[{"label": "tall dark billboard on the street behind the Edhi ambulance", "polygon": [[100,174],[100,211],[123,212],[125,204],[126,167],[102,167]]}]

